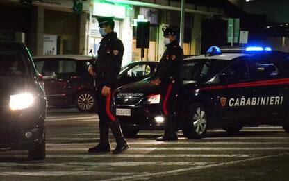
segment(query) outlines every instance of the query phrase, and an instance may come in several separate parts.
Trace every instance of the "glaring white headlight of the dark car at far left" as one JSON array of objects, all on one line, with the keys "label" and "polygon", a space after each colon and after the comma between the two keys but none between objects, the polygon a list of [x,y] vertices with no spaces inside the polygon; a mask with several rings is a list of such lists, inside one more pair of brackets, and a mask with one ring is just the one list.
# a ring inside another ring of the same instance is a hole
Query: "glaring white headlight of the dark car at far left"
[{"label": "glaring white headlight of the dark car at far left", "polygon": [[11,110],[23,110],[31,107],[34,103],[34,97],[32,94],[16,94],[10,96],[10,109]]}]

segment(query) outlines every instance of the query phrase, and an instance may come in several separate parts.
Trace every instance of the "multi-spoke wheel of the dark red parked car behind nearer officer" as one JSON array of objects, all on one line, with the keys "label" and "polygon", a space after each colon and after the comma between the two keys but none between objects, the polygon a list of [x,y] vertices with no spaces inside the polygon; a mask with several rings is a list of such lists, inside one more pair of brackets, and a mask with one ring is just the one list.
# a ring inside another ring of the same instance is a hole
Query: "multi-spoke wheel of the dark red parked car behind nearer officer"
[{"label": "multi-spoke wheel of the dark red parked car behind nearer officer", "polygon": [[75,105],[80,112],[93,112],[95,110],[95,95],[90,91],[82,91],[76,95]]}]

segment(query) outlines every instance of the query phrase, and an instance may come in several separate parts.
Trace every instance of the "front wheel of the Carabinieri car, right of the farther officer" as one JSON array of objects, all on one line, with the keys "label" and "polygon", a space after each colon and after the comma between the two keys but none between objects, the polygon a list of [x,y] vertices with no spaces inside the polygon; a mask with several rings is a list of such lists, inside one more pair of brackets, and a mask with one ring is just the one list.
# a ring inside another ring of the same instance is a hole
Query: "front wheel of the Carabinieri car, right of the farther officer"
[{"label": "front wheel of the Carabinieri car, right of the farther officer", "polygon": [[188,139],[202,138],[206,136],[208,128],[208,112],[201,103],[190,105],[185,112],[185,119],[182,123],[183,135]]}]

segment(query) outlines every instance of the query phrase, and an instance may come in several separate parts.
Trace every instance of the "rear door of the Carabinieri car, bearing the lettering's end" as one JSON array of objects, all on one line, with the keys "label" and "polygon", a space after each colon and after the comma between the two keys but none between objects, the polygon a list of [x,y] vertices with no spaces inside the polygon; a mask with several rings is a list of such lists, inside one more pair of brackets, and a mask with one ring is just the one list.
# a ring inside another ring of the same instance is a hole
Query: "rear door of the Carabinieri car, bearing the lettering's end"
[{"label": "rear door of the Carabinieri car, bearing the lettering's end", "polygon": [[274,58],[267,56],[252,57],[248,61],[251,80],[256,83],[255,96],[257,98],[261,122],[283,118],[286,112],[284,106],[288,100],[288,80],[284,77],[283,69]]}]

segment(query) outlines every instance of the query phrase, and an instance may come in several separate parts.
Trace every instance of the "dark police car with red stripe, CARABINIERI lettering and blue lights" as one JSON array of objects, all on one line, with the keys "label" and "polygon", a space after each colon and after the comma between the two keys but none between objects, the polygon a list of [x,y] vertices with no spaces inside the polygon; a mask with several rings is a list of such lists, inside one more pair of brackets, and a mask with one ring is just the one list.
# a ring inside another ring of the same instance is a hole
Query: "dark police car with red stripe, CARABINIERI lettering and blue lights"
[{"label": "dark police car with red stripe, CARABINIERI lettering and blue lights", "polygon": [[[270,47],[211,47],[184,60],[177,95],[179,126],[189,139],[208,128],[238,132],[243,126],[282,125],[289,132],[289,56]],[[113,107],[124,135],[163,129],[160,92],[151,77],[119,87]]]}]

